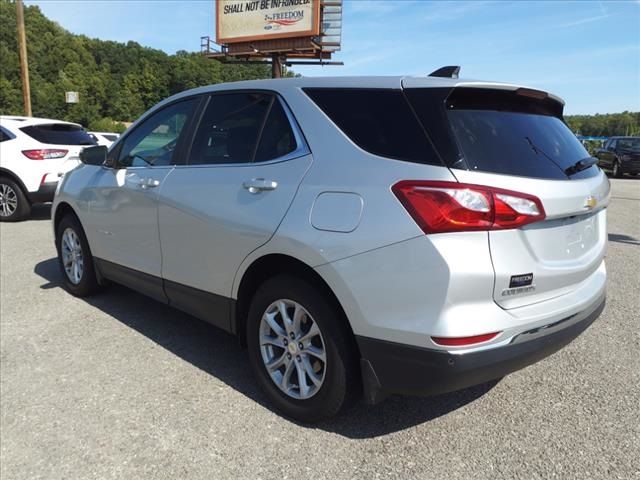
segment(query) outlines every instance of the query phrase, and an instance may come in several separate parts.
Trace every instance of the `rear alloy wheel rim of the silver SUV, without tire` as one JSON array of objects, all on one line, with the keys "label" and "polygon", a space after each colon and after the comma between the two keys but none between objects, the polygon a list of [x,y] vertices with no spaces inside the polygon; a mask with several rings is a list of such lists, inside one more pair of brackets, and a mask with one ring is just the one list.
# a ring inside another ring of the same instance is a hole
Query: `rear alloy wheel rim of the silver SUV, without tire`
[{"label": "rear alloy wheel rim of the silver SUV, without tire", "polygon": [[273,302],[259,329],[262,361],[271,380],[297,400],[313,397],[324,382],[327,354],[318,324],[293,300]]}]

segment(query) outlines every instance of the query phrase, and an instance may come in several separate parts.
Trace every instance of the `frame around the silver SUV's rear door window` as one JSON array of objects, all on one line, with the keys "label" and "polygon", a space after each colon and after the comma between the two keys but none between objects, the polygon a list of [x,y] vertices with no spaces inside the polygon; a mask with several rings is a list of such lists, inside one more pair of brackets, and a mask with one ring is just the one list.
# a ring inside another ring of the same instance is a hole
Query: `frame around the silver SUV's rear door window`
[{"label": "frame around the silver SUV's rear door window", "polygon": [[[271,160],[266,160],[264,162],[255,162],[255,161],[249,161],[249,162],[243,162],[243,163],[208,163],[208,164],[197,164],[197,165],[193,165],[189,163],[189,160],[191,158],[191,150],[193,148],[193,142],[195,140],[195,136],[196,133],[198,131],[198,127],[200,126],[200,122],[202,121],[202,117],[204,116],[204,113],[207,109],[207,106],[209,105],[209,102],[211,101],[211,99],[213,97],[216,96],[221,96],[221,95],[233,95],[233,94],[239,94],[239,93],[261,93],[261,94],[265,94],[265,95],[270,95],[272,100],[271,100],[271,104],[269,105],[269,110],[267,111],[265,117],[264,117],[264,121],[262,123],[261,128],[258,131],[258,137],[257,137],[257,141],[256,141],[256,145],[254,148],[254,152],[253,152],[253,157],[255,158],[255,153],[257,151],[258,145],[260,144],[260,140],[262,139],[262,132],[264,130],[264,127],[266,125],[267,122],[267,118],[269,117],[269,114],[271,113],[271,108],[273,107],[273,102],[275,101],[279,101],[280,102],[280,106],[282,107],[282,109],[284,110],[285,115],[287,116],[287,120],[289,121],[289,126],[291,127],[291,130],[293,131],[293,137],[296,141],[296,148],[295,150],[287,153],[286,155],[283,155],[281,157],[277,157],[277,158],[273,158]],[[302,133],[302,129],[300,128],[300,125],[298,124],[298,121],[296,120],[295,116],[293,115],[293,112],[291,111],[291,108],[289,107],[289,105],[287,104],[287,102],[282,98],[282,95],[280,95],[278,92],[273,91],[273,90],[261,90],[261,89],[237,89],[237,90],[221,90],[221,91],[215,91],[215,92],[208,92],[206,94],[204,94],[207,98],[205,101],[202,102],[201,105],[201,110],[196,114],[197,117],[197,121],[194,122],[193,124],[193,128],[190,132],[190,138],[189,138],[189,143],[188,145],[185,147],[185,162],[180,164],[180,165],[175,165],[175,168],[218,168],[218,167],[253,167],[256,165],[271,165],[274,163],[281,163],[281,162],[287,162],[289,160],[293,160],[296,158],[300,158],[300,157],[304,157],[306,155],[310,155],[311,154],[311,149],[309,148],[309,145],[306,141],[306,139],[304,138],[304,134]]]}]

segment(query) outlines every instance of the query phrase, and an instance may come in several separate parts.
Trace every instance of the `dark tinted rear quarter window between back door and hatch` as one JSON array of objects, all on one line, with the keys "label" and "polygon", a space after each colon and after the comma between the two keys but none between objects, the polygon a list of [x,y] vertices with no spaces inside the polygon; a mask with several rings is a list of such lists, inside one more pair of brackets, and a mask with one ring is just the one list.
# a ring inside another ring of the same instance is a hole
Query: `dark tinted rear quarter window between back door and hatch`
[{"label": "dark tinted rear quarter window between back door and hatch", "polygon": [[306,88],[304,92],[363,150],[441,165],[400,90]]}]

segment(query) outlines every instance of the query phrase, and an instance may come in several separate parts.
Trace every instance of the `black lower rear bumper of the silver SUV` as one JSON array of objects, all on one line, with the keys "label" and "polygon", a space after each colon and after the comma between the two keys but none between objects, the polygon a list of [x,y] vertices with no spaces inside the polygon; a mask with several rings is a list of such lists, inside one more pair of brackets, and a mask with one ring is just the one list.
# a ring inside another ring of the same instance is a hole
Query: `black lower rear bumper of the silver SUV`
[{"label": "black lower rear bumper of the silver SUV", "polygon": [[604,306],[602,295],[582,312],[522,332],[506,345],[470,353],[357,337],[366,400],[376,403],[390,393],[435,395],[501,378],[560,350],[586,330]]}]

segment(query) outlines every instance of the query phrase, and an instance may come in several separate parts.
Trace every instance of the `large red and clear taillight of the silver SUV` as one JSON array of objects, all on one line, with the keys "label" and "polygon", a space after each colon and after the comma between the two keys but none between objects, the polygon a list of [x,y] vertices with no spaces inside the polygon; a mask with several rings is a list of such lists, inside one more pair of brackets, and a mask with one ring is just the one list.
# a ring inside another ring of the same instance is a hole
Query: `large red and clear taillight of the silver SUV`
[{"label": "large red and clear taillight of the silver SUV", "polygon": [[540,199],[526,193],[422,180],[391,189],[425,233],[519,228],[545,218]]}]

